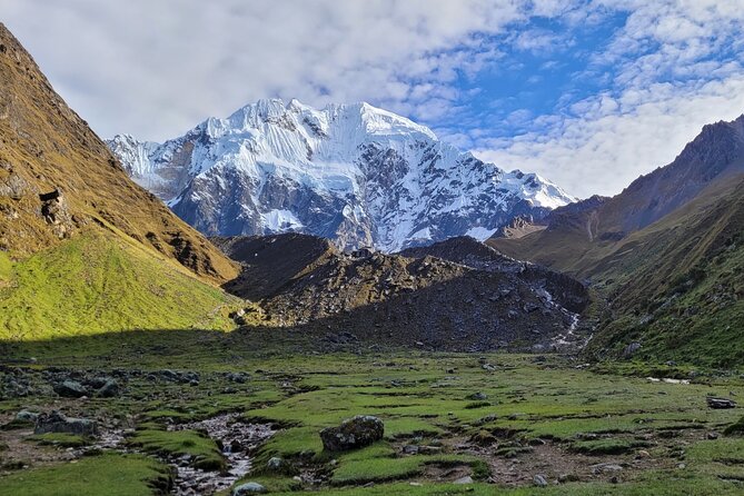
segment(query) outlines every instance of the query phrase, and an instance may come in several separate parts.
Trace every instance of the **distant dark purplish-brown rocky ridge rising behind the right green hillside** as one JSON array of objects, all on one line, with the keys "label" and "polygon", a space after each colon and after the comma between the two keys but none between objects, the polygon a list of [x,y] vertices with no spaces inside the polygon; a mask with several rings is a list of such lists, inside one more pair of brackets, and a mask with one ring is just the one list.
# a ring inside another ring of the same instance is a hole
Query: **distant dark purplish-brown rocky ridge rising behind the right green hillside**
[{"label": "distant dark purplish-brown rocky ridge rising behind the right green hillside", "polygon": [[[668,166],[633,181],[613,198],[592,197],[554,209],[533,222],[530,236],[488,241],[509,256],[587,277],[597,251],[627,238],[744,173],[744,116],[705,126]],[[524,228],[523,228],[524,229]]]}]

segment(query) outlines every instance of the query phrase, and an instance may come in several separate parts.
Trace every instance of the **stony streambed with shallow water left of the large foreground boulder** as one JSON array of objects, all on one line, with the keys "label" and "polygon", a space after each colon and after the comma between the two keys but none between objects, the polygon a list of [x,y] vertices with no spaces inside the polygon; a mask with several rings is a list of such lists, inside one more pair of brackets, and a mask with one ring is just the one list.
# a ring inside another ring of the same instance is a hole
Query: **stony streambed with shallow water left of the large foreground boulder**
[{"label": "stony streambed with shallow water left of the large foreground boulder", "polygon": [[178,424],[171,430],[201,430],[221,447],[227,463],[224,473],[195,468],[189,457],[172,458],[168,463],[177,470],[175,494],[178,496],[210,495],[229,488],[251,468],[251,453],[274,430],[265,424],[245,424],[238,414],[225,414],[206,420]]}]

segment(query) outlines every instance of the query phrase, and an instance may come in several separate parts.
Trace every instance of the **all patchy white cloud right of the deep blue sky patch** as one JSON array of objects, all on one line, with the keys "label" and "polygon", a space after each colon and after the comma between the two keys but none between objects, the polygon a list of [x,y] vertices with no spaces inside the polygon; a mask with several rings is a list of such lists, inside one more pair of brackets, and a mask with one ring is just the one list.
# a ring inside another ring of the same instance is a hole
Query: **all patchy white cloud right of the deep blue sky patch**
[{"label": "all patchy white cloud right of the deep blue sky patch", "polygon": [[619,192],[671,162],[704,125],[744,112],[741,0],[596,0],[594,7],[629,12],[587,71],[597,77],[617,67],[607,89],[582,101],[567,95],[555,115],[535,120],[538,131],[480,140],[476,152],[506,169],[536,170],[581,197]]}]

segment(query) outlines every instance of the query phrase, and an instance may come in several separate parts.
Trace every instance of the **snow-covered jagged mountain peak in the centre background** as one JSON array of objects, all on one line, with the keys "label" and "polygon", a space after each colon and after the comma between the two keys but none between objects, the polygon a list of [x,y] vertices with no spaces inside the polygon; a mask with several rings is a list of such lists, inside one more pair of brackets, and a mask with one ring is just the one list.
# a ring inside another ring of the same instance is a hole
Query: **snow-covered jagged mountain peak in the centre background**
[{"label": "snow-covered jagged mountain peak in the centre background", "polygon": [[574,201],[535,173],[505,172],[368,103],[317,110],[259,100],[162,145],[109,142],[129,175],[207,235],[301,231],[345,249],[396,251]]}]

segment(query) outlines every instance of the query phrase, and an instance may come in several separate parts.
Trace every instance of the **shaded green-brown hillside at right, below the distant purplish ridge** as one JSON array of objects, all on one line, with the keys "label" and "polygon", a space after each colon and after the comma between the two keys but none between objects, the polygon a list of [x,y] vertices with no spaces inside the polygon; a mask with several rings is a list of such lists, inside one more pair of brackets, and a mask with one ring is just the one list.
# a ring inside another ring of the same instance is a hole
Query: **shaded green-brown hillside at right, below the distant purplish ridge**
[{"label": "shaded green-brown hillside at right, below the distant purplish ridge", "polygon": [[[595,357],[730,366],[744,359],[744,180],[727,176],[693,201],[621,240],[591,239],[591,218],[522,239],[492,240],[508,255],[589,278],[606,311]],[[581,224],[581,226],[579,226]]]}]

